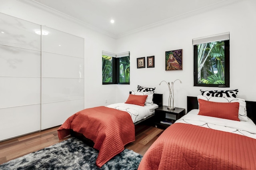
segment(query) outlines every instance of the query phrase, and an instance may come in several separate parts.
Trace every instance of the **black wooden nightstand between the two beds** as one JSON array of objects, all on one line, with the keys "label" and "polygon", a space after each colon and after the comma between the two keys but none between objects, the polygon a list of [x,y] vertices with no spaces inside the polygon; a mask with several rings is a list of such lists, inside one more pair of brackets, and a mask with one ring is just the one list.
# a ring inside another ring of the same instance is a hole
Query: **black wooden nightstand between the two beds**
[{"label": "black wooden nightstand between the two beds", "polygon": [[[169,113],[171,115],[174,115],[174,119],[166,119],[165,115],[166,113]],[[170,121],[174,123],[176,120],[180,119],[182,116],[185,115],[185,109],[176,107],[174,110],[167,109],[167,106],[161,106],[155,109],[155,126],[159,128],[168,128],[170,125],[166,125],[163,123],[160,123],[160,121]]]}]

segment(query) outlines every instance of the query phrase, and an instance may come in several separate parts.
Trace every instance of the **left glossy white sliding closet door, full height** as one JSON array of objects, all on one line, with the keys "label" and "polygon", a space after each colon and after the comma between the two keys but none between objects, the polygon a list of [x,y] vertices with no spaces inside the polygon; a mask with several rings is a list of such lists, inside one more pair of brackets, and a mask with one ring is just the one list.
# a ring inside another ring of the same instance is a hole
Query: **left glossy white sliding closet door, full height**
[{"label": "left glossy white sliding closet door, full height", "polygon": [[0,13],[0,141],[41,129],[41,26]]}]

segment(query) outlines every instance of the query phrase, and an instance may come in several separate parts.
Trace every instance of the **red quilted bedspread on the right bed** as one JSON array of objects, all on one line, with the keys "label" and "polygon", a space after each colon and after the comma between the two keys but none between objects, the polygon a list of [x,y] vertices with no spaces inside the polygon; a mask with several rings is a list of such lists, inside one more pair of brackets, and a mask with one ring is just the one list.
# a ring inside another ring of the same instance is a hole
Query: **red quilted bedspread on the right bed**
[{"label": "red quilted bedspread on the right bed", "polygon": [[138,170],[255,170],[256,139],[175,123],[145,153]]}]

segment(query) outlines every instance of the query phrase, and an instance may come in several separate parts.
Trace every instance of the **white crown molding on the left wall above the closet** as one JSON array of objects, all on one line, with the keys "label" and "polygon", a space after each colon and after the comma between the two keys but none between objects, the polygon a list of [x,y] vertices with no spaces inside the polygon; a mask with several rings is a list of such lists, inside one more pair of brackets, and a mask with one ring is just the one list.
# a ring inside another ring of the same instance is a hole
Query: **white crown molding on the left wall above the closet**
[{"label": "white crown molding on the left wall above the closet", "polygon": [[83,27],[88,28],[88,29],[90,29],[90,30],[99,32],[99,33],[104,34],[104,35],[106,35],[106,36],[109,36],[109,37],[111,37],[111,38],[115,38],[115,39],[117,38],[117,36],[114,35],[114,34],[111,34],[111,33],[109,33],[109,32],[106,32],[106,31],[104,31],[104,30],[101,30],[101,29],[99,29],[99,28],[97,28],[97,27],[95,27],[95,26],[92,26],[92,25],[90,25],[90,24],[88,24],[88,23],[86,23],[86,22],[83,22],[83,21],[81,21],[81,20],[78,20],[78,19],[76,19],[76,18],[74,18],[74,17],[72,17],[72,16],[69,16],[69,15],[67,15],[67,14],[64,14],[63,12],[60,12],[60,11],[55,10],[55,9],[53,9],[53,8],[50,8],[50,7],[48,7],[48,6],[44,5],[44,4],[41,4],[41,3],[39,3],[39,2],[36,2],[36,1],[34,1],[34,0],[17,0],[17,1],[20,1],[20,2],[22,2],[22,3],[24,3],[24,4],[27,4],[27,5],[30,5],[30,6],[32,6],[32,7],[34,7],[34,8],[38,8],[38,9],[40,9],[40,10],[43,10],[44,12],[48,12],[48,13],[54,15],[54,16],[58,16],[58,17],[60,17],[60,18],[62,18],[62,19],[64,19],[64,20],[68,20],[68,21],[74,22],[74,23],[76,23],[76,24],[78,24],[78,25],[80,25],[80,26],[83,26]]}]

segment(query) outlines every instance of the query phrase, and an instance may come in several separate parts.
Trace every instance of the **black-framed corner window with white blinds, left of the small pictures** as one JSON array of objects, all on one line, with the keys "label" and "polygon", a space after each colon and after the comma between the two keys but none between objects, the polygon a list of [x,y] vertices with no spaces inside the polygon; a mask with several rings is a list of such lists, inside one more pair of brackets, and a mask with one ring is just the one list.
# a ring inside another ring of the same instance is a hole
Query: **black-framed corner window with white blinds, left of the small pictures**
[{"label": "black-framed corner window with white blinds, left of the small pictures", "polygon": [[102,84],[130,84],[130,52],[102,51]]}]

